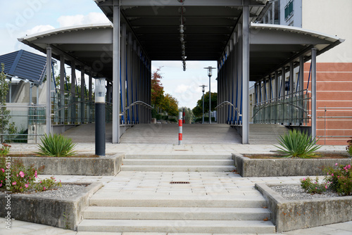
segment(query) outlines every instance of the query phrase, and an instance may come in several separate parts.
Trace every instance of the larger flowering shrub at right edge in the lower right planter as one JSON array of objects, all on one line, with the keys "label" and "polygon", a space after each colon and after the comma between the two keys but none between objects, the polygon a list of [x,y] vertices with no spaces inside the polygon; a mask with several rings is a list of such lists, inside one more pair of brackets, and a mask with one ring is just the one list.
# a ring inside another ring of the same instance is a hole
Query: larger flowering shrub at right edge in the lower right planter
[{"label": "larger flowering shrub at right edge in the lower right planter", "polygon": [[[337,165],[337,163],[335,164]],[[325,168],[327,176],[325,181],[329,183],[329,188],[342,196],[352,195],[352,169],[351,165],[339,165],[337,169]]]}]

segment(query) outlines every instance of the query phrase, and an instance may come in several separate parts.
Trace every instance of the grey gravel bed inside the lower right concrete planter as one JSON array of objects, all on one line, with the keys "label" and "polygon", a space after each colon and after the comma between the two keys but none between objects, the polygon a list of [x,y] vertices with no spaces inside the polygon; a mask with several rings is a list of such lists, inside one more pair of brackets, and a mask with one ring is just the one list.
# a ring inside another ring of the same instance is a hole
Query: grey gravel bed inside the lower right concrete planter
[{"label": "grey gravel bed inside the lower right concrete planter", "polygon": [[280,193],[281,196],[287,200],[300,200],[300,199],[315,199],[315,198],[331,198],[339,196],[339,194],[332,191],[325,191],[324,193],[318,194],[309,194],[303,191],[300,185],[276,185],[270,186],[270,188],[277,193]]}]

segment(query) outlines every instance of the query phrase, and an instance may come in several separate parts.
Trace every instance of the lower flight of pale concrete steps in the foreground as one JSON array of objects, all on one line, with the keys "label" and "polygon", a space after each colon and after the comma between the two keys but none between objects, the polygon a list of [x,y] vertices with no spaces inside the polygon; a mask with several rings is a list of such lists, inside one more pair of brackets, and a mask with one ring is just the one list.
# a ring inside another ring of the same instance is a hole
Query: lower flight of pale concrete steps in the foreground
[{"label": "lower flight of pale concrete steps in the foreground", "polygon": [[77,231],[274,234],[264,198],[122,196],[91,198]]}]

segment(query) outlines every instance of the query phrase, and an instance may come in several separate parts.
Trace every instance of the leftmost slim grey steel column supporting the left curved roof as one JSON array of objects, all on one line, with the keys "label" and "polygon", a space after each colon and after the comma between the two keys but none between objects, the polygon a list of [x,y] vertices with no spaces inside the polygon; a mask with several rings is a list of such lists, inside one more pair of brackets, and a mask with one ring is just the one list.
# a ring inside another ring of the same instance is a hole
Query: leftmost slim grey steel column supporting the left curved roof
[{"label": "leftmost slim grey steel column supporting the left curved roof", "polygon": [[46,134],[51,133],[51,46],[46,47]]}]

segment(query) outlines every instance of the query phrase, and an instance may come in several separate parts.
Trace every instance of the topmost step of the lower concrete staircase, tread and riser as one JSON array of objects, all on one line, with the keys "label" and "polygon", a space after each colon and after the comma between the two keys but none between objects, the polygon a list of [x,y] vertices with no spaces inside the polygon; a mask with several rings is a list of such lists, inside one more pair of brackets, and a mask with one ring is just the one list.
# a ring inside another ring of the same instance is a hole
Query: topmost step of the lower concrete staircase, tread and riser
[{"label": "topmost step of the lower concrete staircase, tread and riser", "polygon": [[[179,207],[179,208],[263,208],[263,196],[133,196],[116,193],[96,193],[89,200],[90,206],[103,207]],[[236,209],[234,209],[236,210]]]}]

